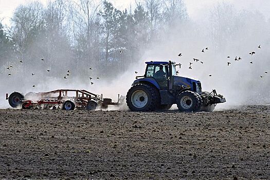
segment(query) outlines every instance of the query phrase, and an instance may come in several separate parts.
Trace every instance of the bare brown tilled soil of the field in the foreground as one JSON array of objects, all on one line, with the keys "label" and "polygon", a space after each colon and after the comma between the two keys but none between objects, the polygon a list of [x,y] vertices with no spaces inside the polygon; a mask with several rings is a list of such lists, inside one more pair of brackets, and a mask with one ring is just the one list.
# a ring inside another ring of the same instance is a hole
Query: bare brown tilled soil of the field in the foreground
[{"label": "bare brown tilled soil of the field in the foreground", "polygon": [[1,179],[269,179],[270,106],[0,110]]}]

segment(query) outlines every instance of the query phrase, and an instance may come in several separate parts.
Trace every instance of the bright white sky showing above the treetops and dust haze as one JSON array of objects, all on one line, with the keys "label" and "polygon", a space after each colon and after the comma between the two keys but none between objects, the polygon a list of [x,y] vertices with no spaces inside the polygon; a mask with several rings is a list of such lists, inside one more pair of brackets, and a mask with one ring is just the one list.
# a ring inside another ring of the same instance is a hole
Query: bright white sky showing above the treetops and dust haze
[{"label": "bright white sky showing above the treetops and dust haze", "polygon": [[[248,9],[262,12],[266,18],[270,18],[270,1],[269,0],[184,0],[189,16],[191,19],[200,19],[202,14],[207,13],[206,9],[211,8],[215,3],[220,1],[232,2],[236,10]],[[31,0],[0,0],[0,21],[9,25],[10,17],[17,6],[29,3]],[[41,0],[44,4],[47,0]],[[118,9],[129,8],[135,4],[135,0],[111,0],[113,5]]]}]

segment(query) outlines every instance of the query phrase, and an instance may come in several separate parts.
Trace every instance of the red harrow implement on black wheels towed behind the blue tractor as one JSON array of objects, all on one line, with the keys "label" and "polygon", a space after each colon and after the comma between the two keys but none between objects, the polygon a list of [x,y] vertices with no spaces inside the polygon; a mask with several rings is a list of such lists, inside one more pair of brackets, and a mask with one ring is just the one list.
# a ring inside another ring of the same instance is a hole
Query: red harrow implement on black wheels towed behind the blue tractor
[{"label": "red harrow implement on black wheels towed behind the blue tractor", "polygon": [[112,102],[112,99],[103,98],[102,94],[96,95],[85,90],[58,89],[50,92],[27,93],[25,96],[14,92],[9,96],[6,94],[6,100],[11,107],[19,109],[96,110],[97,107],[106,109],[108,105],[119,105],[123,98],[118,95],[117,102]]}]

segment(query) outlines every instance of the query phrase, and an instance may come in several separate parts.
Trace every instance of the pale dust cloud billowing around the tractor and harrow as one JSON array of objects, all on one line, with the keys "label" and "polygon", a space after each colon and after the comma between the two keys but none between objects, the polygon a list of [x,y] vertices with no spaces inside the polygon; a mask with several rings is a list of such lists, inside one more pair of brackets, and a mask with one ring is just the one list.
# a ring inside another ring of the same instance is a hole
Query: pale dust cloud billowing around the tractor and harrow
[{"label": "pale dust cloud billowing around the tractor and harrow", "polygon": [[[250,6],[251,3],[256,4],[254,1],[249,3]],[[270,21],[269,16],[259,11],[262,6],[264,4],[258,2],[256,6],[253,6],[256,9],[250,9],[247,6],[241,7],[235,1],[215,1],[196,14],[196,17],[200,18],[187,19],[181,23],[175,22],[174,26],[160,31],[151,45],[143,49],[142,58],[130,64],[127,70],[115,71],[99,80],[91,71],[79,73],[73,71],[72,67],[69,67],[70,76],[63,79],[62,76],[69,69],[68,63],[73,57],[65,57],[68,55],[62,52],[59,53],[67,59],[63,66],[61,63],[57,66],[39,65],[30,71],[20,69],[19,64],[10,69],[9,73],[12,76],[7,77],[6,67],[18,61],[13,59],[2,64],[1,67],[0,107],[2,109],[9,107],[8,102],[5,101],[6,93],[18,91],[26,94],[61,88],[86,89],[117,101],[117,95],[125,96],[135,80],[134,71],[139,72],[137,75],[143,75],[146,66],[144,62],[150,60],[171,60],[183,64],[181,69],[177,69],[179,76],[199,79],[202,82],[203,91],[217,89],[218,94],[224,95],[227,102],[218,104],[218,110],[244,104],[269,104]],[[259,45],[261,48],[258,48]],[[255,55],[249,55],[251,51],[255,51]],[[182,57],[177,56],[180,52],[183,53]],[[227,58],[228,56],[230,58]],[[236,57],[242,59],[235,61]],[[203,64],[194,62],[193,58],[200,59]],[[188,68],[189,62],[193,63],[192,69]],[[227,62],[231,64],[228,66]],[[86,66],[88,64],[82,64],[82,67],[88,69]],[[46,73],[39,75],[39,71],[45,71],[47,68],[52,68],[51,73],[58,71],[55,74],[57,76]],[[268,71],[268,74],[264,73],[265,71]],[[29,76],[31,72],[35,73],[33,78]],[[61,78],[58,77],[59,74]],[[212,76],[209,77],[209,75]],[[89,76],[94,78],[93,85],[86,80]],[[35,87],[32,87],[33,84]],[[127,110],[127,107],[123,109]]]}]

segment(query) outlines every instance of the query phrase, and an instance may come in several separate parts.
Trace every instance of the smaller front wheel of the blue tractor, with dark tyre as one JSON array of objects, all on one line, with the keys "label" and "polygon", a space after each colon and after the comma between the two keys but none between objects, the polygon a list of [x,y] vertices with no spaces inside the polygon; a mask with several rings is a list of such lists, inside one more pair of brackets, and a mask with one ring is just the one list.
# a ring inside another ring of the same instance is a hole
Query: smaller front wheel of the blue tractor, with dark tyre
[{"label": "smaller front wheel of the blue tractor, with dark tyre", "polygon": [[192,91],[184,91],[178,94],[176,104],[179,111],[194,112],[201,109],[202,101],[200,101],[197,93]]}]

